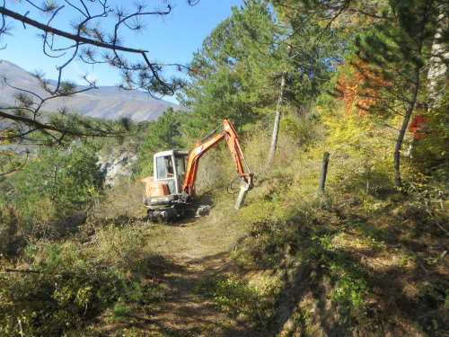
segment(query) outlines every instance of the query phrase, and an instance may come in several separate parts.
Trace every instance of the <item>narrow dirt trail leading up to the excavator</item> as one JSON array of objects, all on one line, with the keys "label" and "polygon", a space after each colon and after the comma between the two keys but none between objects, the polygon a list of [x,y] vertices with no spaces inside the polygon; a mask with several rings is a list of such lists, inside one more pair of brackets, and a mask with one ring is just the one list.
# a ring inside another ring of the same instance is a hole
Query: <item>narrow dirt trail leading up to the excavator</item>
[{"label": "narrow dirt trail leading up to the excavator", "polygon": [[242,235],[205,217],[165,226],[162,235],[154,237],[154,252],[166,262],[166,294],[148,312],[145,330],[153,333],[149,335],[254,335],[195,292],[199,280],[233,270],[229,252]]}]

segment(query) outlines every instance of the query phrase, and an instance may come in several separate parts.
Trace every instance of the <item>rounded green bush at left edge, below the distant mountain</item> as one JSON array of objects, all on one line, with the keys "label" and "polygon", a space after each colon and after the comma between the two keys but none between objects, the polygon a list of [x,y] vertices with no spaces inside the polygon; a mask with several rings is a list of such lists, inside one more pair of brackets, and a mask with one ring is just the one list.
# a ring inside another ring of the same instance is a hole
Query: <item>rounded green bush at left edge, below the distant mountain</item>
[{"label": "rounded green bush at left edge, below the distant mountain", "polygon": [[42,149],[36,160],[6,180],[0,230],[11,243],[29,235],[61,237],[84,222],[85,209],[98,200],[102,188],[96,150]]}]

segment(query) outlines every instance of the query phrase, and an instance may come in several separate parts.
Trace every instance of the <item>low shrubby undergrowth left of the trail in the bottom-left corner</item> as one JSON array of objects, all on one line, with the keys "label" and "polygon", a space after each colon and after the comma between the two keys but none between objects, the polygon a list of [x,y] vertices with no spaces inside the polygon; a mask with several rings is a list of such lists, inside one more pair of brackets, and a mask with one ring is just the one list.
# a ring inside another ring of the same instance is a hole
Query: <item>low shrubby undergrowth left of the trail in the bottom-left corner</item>
[{"label": "low shrubby undergrowth left of the trail in the bottom-left corner", "polygon": [[[160,258],[145,223],[94,224],[61,242],[30,242],[0,261],[1,335],[77,335],[97,316],[108,322],[157,300]],[[84,335],[92,335],[85,332]]]}]

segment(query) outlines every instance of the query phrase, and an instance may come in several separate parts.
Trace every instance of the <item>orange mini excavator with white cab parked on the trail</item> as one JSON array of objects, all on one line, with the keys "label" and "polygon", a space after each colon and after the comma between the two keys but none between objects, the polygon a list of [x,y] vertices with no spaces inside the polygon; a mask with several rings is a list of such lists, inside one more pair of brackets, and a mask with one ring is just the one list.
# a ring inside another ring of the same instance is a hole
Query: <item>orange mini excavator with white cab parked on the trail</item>
[{"label": "orange mini excavator with white cab parked on the trail", "polygon": [[[219,129],[223,130],[216,134]],[[242,206],[246,194],[254,186],[253,173],[246,163],[233,125],[229,120],[224,120],[222,125],[199,140],[189,152],[171,150],[154,155],[154,176],[141,181],[145,182],[144,204],[149,217],[171,221],[177,217],[200,217],[208,213],[209,206],[194,202],[199,158],[222,140],[229,146],[233,163],[237,167],[237,176],[233,182],[240,179],[240,192],[234,208]]]}]

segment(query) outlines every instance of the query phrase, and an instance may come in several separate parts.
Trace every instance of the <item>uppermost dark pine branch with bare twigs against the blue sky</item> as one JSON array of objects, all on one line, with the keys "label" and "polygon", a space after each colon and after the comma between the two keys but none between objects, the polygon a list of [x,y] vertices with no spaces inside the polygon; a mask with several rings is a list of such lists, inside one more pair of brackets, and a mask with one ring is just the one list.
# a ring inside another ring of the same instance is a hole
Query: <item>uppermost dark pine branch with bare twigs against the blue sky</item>
[{"label": "uppermost dark pine branch with bare twigs against the blue sky", "polygon": [[[41,39],[43,40],[43,52],[50,58],[61,58],[67,55],[69,50],[72,52],[62,66],[57,67],[58,78],[57,85],[48,93],[56,95],[59,86],[63,80],[63,70],[70,64],[75,58],[80,58],[87,64],[108,63],[111,67],[116,67],[121,70],[128,70],[129,73],[125,77],[138,77],[139,80],[133,79],[131,81],[124,81],[127,85],[121,85],[126,89],[145,89],[154,98],[161,98],[163,95],[172,95],[177,89],[179,89],[181,81],[170,80],[165,81],[163,76],[160,75],[163,71],[162,63],[150,62],[147,54],[148,50],[128,48],[121,44],[119,37],[120,28],[125,28],[130,31],[141,31],[145,28],[145,22],[142,18],[145,16],[163,16],[172,12],[172,6],[166,4],[163,9],[154,9],[154,11],[146,11],[145,3],[135,3],[134,11],[129,11],[125,7],[120,7],[115,10],[110,9],[110,6],[106,1],[100,1],[101,10],[97,13],[92,13],[89,6],[85,4],[83,0],[80,0],[80,5],[76,5],[74,1],[67,1],[66,4],[69,8],[75,10],[75,12],[81,13],[83,18],[78,22],[71,22],[72,28],[75,29],[75,33],[60,30],[55,28],[52,24],[58,13],[65,10],[65,5],[45,7],[43,4],[38,6],[31,1],[27,1],[32,7],[39,10],[41,13],[48,13],[50,17],[48,22],[42,23],[31,19],[27,12],[25,15],[21,13],[13,12],[6,8],[5,2],[0,7],[0,14],[3,22],[3,30],[0,27],[0,35],[9,31],[6,26],[6,18],[11,18],[22,22],[23,24],[30,25],[40,31]],[[189,1],[189,5],[198,4],[198,1]],[[117,21],[111,30],[110,37],[107,37],[106,33],[101,31],[99,22],[92,23],[94,20],[106,19],[110,14],[115,14]],[[55,37],[64,38],[66,40],[73,41],[73,44],[68,46],[55,46]],[[95,49],[103,49],[101,58],[97,58],[99,55]],[[110,53],[106,52],[110,50]],[[62,51],[58,55],[52,55],[57,51]],[[126,53],[127,55],[140,55],[143,58],[143,62],[129,62],[126,58],[119,55],[119,52]],[[183,65],[167,65],[168,67],[184,68],[188,71],[188,67]],[[145,75],[146,72],[149,72]]]}]

